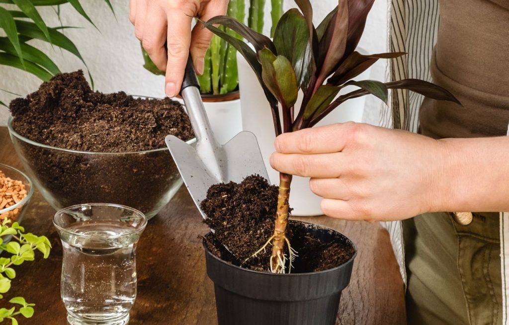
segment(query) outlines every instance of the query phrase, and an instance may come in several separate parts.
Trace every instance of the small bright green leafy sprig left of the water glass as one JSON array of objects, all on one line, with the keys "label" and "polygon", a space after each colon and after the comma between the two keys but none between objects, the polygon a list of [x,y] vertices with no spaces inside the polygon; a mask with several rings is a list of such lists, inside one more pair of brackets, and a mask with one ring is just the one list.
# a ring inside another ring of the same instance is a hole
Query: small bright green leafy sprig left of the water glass
[{"label": "small bright green leafy sprig left of the water glass", "polygon": [[[25,233],[25,229],[17,222],[11,226],[9,219],[4,219],[2,227],[0,228],[0,238],[2,241],[6,239],[9,243],[0,244],[0,249],[11,254],[10,257],[0,257],[0,299],[11,288],[11,280],[16,277],[16,271],[12,268],[13,265],[20,265],[24,261],[33,261],[35,251],[38,250],[44,254],[44,258],[49,256],[51,244],[45,236],[37,236],[33,233]],[[5,253],[4,253],[5,254]],[[22,315],[25,318],[30,318],[34,315],[35,304],[26,303],[22,297],[14,297],[9,300],[9,303],[20,305],[19,309],[16,307],[0,308],[0,322],[5,319],[10,319],[12,325],[17,325],[18,321],[14,316]]]}]

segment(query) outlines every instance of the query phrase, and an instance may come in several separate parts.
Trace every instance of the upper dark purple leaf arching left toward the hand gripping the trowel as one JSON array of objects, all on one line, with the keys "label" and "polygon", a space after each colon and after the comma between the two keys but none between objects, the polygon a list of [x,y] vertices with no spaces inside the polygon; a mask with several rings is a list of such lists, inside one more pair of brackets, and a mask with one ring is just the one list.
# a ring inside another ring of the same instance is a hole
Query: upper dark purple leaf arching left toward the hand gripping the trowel
[{"label": "upper dark purple leaf arching left toward the hand gripping the trowel", "polygon": [[216,16],[214,18],[209,19],[207,22],[202,23],[207,28],[214,24],[221,24],[223,26],[232,28],[235,32],[239,33],[243,38],[245,38],[249,43],[251,43],[257,52],[266,47],[270,49],[272,53],[277,53],[274,43],[272,43],[270,38],[263,34],[253,31],[251,28],[247,27],[246,25],[232,17]]}]

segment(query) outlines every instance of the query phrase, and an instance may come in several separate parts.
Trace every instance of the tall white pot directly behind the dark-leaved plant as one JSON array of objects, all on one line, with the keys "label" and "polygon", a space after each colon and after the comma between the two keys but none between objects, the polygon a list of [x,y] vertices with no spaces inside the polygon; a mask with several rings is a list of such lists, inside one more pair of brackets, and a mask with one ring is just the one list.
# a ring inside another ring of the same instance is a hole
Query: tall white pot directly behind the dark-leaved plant
[{"label": "tall white pot directly behind the dark-leaved plant", "polygon": [[[269,173],[270,182],[279,184],[279,174],[270,167],[269,157],[274,151],[275,139],[272,123],[272,113],[265,98],[258,78],[251,70],[242,55],[237,53],[237,65],[239,70],[240,106],[242,111],[242,129],[254,133],[260,144],[260,150],[264,158],[265,166]],[[370,70],[366,70],[356,80],[369,79]],[[345,87],[339,95],[355,90],[357,87]],[[295,107],[300,107],[301,92]],[[351,99],[343,103],[325,117],[317,126],[342,122],[361,122],[364,111],[365,97]],[[297,112],[296,112],[297,114]],[[290,191],[290,207],[293,208],[294,216],[317,216],[322,215],[320,209],[321,197],[315,195],[309,189],[309,178],[294,176]]]}]

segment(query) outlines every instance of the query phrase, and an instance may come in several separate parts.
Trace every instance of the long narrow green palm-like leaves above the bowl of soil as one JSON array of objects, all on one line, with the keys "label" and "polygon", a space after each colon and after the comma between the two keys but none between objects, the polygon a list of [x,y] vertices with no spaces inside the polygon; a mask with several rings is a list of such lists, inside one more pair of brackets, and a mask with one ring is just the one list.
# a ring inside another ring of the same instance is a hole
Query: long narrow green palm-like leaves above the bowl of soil
[{"label": "long narrow green palm-like leaves above the bowl of soil", "polygon": [[[110,1],[104,1],[113,12]],[[71,52],[87,66],[76,45],[62,33],[63,29],[72,27],[48,27],[37,10],[42,6],[60,6],[66,3],[94,25],[78,0],[0,0],[0,29],[3,29],[6,35],[0,37],[0,65],[24,70],[43,81],[61,73],[48,55],[30,45],[31,40],[38,39]],[[60,7],[56,7],[55,12],[60,15]],[[92,80],[91,76],[90,78]]]}]

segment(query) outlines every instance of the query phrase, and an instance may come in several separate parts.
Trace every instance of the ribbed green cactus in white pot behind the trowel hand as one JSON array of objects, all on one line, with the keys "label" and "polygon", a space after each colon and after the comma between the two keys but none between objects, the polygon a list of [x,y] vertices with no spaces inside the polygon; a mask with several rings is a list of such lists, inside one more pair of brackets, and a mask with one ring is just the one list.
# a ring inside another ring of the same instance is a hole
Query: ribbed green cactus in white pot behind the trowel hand
[{"label": "ribbed green cactus in white pot behind the trowel hand", "polygon": [[[228,4],[227,15],[238,21],[244,22],[246,10],[246,0],[230,0]],[[261,33],[264,27],[265,0],[249,0],[248,7],[248,26]],[[282,0],[271,0],[271,19],[272,29],[282,15]],[[219,27],[230,37],[242,40],[242,37],[232,29]],[[164,74],[150,60],[149,55],[143,50],[144,67],[154,74]],[[237,50],[235,46],[229,44],[218,36],[214,36],[210,42],[210,47],[205,55],[204,71],[198,76],[202,94],[224,95],[237,90],[239,85],[239,76],[237,70]]]}]

